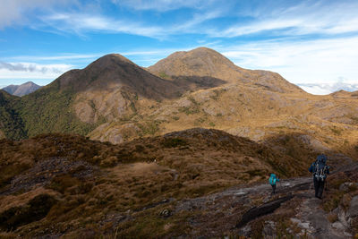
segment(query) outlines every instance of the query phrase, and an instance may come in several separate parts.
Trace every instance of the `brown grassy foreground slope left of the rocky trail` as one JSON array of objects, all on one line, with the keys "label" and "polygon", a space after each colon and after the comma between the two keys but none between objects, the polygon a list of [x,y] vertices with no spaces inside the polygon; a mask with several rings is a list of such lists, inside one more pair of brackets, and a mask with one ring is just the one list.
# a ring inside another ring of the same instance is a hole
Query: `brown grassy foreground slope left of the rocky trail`
[{"label": "brown grassy foreground slope left of the rocky trail", "polygon": [[[254,141],[200,128],[119,145],[64,134],[3,140],[0,228],[30,237],[116,230],[144,236],[147,229],[161,235],[156,220],[142,218],[141,223],[151,222],[141,229],[137,212],[253,184],[271,172],[283,178],[304,175],[311,153],[298,161]],[[156,218],[154,213],[147,217]],[[182,217],[173,222],[174,230]]]}]

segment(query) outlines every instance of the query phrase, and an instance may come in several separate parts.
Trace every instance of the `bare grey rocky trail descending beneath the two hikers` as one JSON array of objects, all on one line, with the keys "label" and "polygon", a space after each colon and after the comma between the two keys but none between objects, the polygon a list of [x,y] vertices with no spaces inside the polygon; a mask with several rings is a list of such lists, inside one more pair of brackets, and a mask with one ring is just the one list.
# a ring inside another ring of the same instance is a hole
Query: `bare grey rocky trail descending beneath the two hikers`
[{"label": "bare grey rocky trail descending beneath the two hikers", "polygon": [[[342,162],[344,156],[338,155],[336,160]],[[344,158],[350,166],[341,166],[333,174],[351,168],[356,163],[350,158]],[[269,184],[254,184],[237,186],[224,192],[208,196],[178,201],[174,214],[190,211],[195,215],[188,219],[192,228],[183,237],[216,237],[226,235],[252,236],[250,222],[268,216],[263,226],[266,238],[277,237],[277,222],[270,220],[275,215],[285,215],[282,212],[291,210],[289,217],[292,225],[292,235],[308,238],[350,238],[349,228],[339,221],[330,223],[328,213],[322,209],[322,201],[314,197],[312,178],[299,177],[281,180],[277,185],[277,193],[271,194]],[[281,214],[279,214],[281,213]],[[282,217],[282,216],[281,216]],[[286,228],[290,231],[291,228]],[[294,231],[295,230],[295,231]]]}]

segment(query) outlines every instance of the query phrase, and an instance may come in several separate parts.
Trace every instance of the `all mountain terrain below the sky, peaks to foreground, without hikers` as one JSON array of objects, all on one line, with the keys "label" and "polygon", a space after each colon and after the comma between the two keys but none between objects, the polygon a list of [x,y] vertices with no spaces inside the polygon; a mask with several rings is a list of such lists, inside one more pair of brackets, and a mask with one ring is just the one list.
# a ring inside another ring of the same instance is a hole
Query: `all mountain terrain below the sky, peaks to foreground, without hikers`
[{"label": "all mountain terrain below the sky, peaks to foreground, without hikers", "polygon": [[357,92],[314,96],[208,48],[168,58],[105,55],[21,98],[0,90],[0,237],[358,233]]}]

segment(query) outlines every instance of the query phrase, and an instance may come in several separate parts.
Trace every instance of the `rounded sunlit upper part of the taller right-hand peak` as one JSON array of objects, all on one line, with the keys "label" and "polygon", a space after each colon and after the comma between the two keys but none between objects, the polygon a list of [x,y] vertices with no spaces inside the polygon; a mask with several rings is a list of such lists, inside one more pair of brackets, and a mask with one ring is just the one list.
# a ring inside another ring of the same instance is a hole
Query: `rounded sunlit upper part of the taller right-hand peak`
[{"label": "rounded sunlit upper part of the taller right-hand peak", "polygon": [[207,47],[188,52],[175,52],[157,64],[149,66],[150,73],[166,78],[213,77],[231,83],[257,84],[279,92],[303,92],[277,73],[243,69],[224,55]]}]

